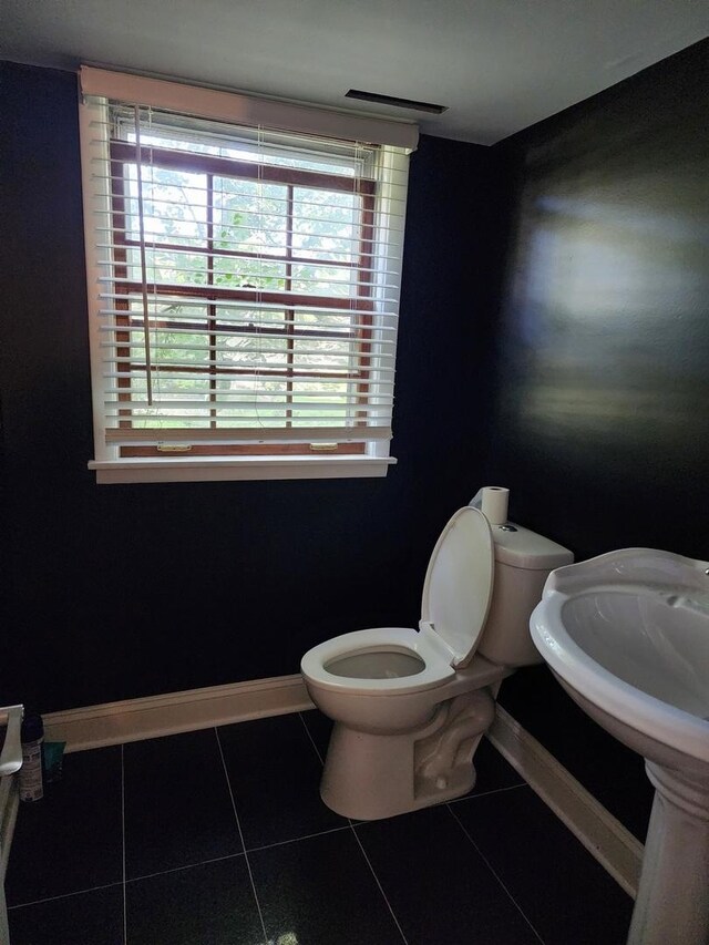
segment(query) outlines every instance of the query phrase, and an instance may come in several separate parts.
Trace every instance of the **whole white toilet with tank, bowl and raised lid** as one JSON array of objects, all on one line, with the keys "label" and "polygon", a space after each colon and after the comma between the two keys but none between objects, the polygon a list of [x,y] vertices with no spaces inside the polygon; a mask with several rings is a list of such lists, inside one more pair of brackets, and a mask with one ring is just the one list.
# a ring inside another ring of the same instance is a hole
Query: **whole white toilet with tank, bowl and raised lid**
[{"label": "whole white toilet with tank, bowl and raised lid", "polygon": [[310,698],[335,721],[320,794],[342,816],[378,820],[466,793],[502,680],[541,662],[530,615],[567,549],[460,509],[438,540],[419,629],[333,637],[302,657]]}]

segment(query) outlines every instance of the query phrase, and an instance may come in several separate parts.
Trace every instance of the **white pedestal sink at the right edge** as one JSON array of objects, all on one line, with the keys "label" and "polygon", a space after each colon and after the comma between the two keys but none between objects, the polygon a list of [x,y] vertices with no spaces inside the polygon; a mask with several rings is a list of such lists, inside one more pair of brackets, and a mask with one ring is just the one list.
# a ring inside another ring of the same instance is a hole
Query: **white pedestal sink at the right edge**
[{"label": "white pedestal sink at the right edge", "polygon": [[709,563],[623,548],[561,567],[530,626],[655,787],[628,945],[709,945]]}]

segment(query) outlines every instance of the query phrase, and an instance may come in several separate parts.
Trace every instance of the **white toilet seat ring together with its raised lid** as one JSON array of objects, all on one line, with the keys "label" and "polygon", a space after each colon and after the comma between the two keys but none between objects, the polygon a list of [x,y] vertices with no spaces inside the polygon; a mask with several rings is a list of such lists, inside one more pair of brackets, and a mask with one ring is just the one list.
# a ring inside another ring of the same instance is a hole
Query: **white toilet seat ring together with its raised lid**
[{"label": "white toilet seat ring together with its raised lid", "polygon": [[[436,542],[423,584],[421,623],[342,634],[308,650],[301,671],[325,689],[361,695],[404,695],[441,686],[472,659],[487,618],[494,577],[490,524],[477,509],[460,509]],[[341,676],[335,660],[377,651],[412,654],[418,672],[394,678]]]}]

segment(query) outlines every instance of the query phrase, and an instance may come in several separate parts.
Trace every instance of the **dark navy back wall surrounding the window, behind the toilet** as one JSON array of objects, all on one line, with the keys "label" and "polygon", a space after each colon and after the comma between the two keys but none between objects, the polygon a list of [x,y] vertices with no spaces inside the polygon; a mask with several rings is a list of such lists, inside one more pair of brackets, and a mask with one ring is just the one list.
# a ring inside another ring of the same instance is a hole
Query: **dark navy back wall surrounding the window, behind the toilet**
[{"label": "dark navy back wall surrounding the window, behind the toilet", "polygon": [[336,634],[415,625],[438,533],[482,483],[490,150],[424,137],[412,158],[387,479],[97,486],[75,79],[6,64],[2,111],[0,705],[50,711],[290,674]]}]

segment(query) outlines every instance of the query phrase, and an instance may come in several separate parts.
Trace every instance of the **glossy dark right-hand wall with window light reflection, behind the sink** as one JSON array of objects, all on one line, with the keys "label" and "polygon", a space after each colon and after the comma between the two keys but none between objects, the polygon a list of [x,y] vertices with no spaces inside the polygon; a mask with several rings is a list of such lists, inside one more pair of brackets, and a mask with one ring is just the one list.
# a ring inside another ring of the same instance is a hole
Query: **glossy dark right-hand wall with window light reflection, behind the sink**
[{"label": "glossy dark right-hand wall with window light reflection, behind the sink", "polygon": [[[708,129],[706,41],[494,148],[513,227],[492,469],[578,558],[709,558]],[[641,761],[545,669],[502,700],[643,833]]]}]

